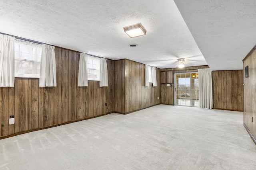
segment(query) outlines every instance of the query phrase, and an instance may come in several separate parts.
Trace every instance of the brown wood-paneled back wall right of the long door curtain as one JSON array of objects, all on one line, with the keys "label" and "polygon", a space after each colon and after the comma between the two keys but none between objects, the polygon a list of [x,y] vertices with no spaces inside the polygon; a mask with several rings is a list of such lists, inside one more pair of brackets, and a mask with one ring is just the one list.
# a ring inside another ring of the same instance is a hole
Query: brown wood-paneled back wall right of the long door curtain
[{"label": "brown wood-paneled back wall right of the long door curtain", "polygon": [[212,72],[213,108],[244,111],[243,70]]}]

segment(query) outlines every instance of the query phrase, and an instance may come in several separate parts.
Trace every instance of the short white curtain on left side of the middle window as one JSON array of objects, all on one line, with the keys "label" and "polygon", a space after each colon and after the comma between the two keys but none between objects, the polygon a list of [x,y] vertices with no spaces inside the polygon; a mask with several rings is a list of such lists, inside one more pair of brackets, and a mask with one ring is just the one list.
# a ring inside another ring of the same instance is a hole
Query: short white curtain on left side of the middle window
[{"label": "short white curtain on left side of the middle window", "polygon": [[85,53],[80,53],[78,70],[78,87],[88,86],[87,57]]}]

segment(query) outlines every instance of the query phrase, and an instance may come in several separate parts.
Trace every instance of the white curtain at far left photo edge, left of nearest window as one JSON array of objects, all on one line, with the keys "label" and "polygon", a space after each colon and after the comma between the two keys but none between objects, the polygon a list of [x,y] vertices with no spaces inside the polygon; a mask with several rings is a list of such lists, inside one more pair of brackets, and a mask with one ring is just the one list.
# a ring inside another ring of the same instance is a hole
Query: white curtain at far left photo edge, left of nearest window
[{"label": "white curtain at far left photo edge, left of nearest window", "polygon": [[14,87],[14,37],[0,34],[0,87]]}]

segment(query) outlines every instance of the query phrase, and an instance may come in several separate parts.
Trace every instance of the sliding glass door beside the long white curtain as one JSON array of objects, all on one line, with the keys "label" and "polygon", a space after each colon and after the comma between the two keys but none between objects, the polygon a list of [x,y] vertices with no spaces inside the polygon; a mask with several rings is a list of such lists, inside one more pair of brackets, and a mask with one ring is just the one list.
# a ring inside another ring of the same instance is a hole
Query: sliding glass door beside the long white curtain
[{"label": "sliding glass door beside the long white curtain", "polygon": [[174,77],[174,105],[198,107],[198,72],[175,73]]}]

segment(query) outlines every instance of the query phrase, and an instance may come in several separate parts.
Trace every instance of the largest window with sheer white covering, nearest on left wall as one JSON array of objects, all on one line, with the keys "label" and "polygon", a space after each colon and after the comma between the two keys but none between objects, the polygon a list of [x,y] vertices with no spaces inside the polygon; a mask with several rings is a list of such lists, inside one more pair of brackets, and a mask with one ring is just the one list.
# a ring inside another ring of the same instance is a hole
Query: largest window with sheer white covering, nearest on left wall
[{"label": "largest window with sheer white covering, nearest on left wall", "polygon": [[14,51],[15,77],[39,78],[42,45],[15,39]]}]

